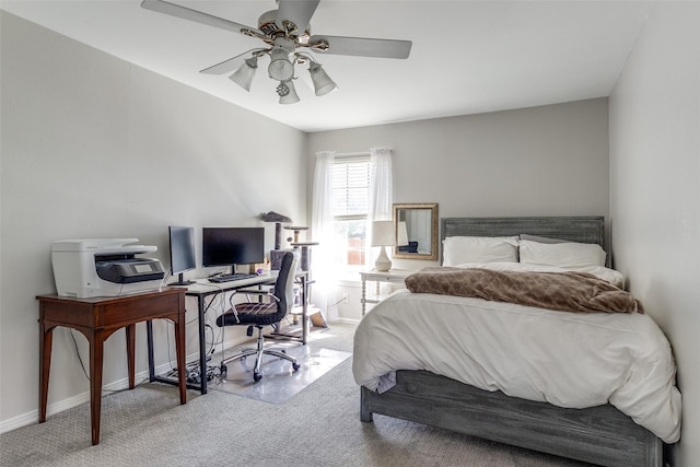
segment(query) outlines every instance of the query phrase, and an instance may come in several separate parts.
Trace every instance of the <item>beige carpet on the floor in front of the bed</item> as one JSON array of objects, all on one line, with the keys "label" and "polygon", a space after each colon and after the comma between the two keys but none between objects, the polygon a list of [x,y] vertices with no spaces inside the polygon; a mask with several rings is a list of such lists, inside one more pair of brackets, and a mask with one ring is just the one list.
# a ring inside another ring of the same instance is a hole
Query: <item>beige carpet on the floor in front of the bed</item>
[{"label": "beige carpet on the floor in front of the bed", "polygon": [[[331,324],[310,347],[349,352],[352,326]],[[83,404],[0,435],[1,466],[476,466],[562,467],[584,464],[445,430],[374,416],[360,421],[351,359],[284,404],[221,390],[143,384],[103,398],[101,443],[90,443]]]}]

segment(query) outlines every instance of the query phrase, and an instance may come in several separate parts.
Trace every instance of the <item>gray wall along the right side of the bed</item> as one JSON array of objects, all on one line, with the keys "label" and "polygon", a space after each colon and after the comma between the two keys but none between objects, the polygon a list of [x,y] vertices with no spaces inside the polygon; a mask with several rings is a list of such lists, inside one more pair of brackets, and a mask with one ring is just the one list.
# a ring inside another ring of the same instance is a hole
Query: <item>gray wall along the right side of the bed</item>
[{"label": "gray wall along the right side of the bed", "polygon": [[673,346],[677,467],[700,459],[699,20],[697,2],[656,4],[610,96],[615,265]]}]

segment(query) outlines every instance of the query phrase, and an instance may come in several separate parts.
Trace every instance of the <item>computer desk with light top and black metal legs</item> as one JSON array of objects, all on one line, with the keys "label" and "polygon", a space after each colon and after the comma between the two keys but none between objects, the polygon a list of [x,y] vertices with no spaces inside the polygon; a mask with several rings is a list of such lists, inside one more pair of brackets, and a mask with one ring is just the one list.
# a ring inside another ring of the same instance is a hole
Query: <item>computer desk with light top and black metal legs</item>
[{"label": "computer desk with light top and black metal legs", "polygon": [[[302,337],[296,338],[296,337],[287,336],[285,338],[288,340],[298,340],[302,345],[306,345],[307,319],[308,319],[306,291],[307,291],[308,276],[305,271],[299,271],[296,272],[296,278],[301,281]],[[192,285],[187,287],[187,289],[183,289],[186,291],[185,293],[187,296],[194,296],[195,299],[197,299],[197,313],[199,316],[199,380],[200,380],[200,383],[198,385],[187,383],[187,387],[190,387],[192,389],[199,389],[201,394],[207,394],[207,342],[206,342],[206,336],[205,336],[206,334],[205,314],[207,308],[206,299],[208,296],[212,296],[218,293],[235,292],[238,289],[245,289],[254,285],[273,284],[276,281],[277,281],[277,271],[272,271],[272,272],[259,275],[258,277],[255,277],[255,278],[241,279],[241,280],[221,282],[221,283],[213,283],[213,282],[209,282],[207,279],[200,279]],[[148,328],[148,332],[149,332],[149,341],[150,341],[152,339],[152,330],[150,326]],[[152,355],[150,354],[149,358],[151,359]],[[184,367],[184,366],[180,366],[180,367]],[[184,372],[178,372],[178,376],[180,373],[184,373]],[[151,381],[158,381],[158,382],[171,383],[171,384],[173,383],[172,380],[156,376],[155,374],[153,374],[152,370],[151,370],[150,376],[151,376]]]}]

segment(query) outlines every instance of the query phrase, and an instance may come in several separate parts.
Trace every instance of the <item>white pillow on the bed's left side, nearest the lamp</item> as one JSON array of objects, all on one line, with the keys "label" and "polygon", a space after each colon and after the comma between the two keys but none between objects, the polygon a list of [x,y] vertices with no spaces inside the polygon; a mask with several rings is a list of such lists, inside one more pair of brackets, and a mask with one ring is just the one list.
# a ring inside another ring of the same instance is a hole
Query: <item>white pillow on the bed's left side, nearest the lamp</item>
[{"label": "white pillow on the bed's left side, nearest the lamp", "polygon": [[448,236],[443,266],[463,262],[517,262],[517,236]]}]

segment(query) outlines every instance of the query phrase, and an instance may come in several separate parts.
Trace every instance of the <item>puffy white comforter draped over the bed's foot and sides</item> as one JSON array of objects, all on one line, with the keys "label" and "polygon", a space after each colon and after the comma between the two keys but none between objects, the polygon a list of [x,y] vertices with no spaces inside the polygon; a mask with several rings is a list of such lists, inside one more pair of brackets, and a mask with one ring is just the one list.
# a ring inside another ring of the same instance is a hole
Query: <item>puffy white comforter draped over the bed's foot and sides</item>
[{"label": "puffy white comforter draped over the bed's foot and sides", "polygon": [[644,314],[552,312],[399,290],[354,336],[355,382],[388,390],[428,370],[486,390],[585,408],[610,402],[666,443],[680,437],[668,340]]}]

